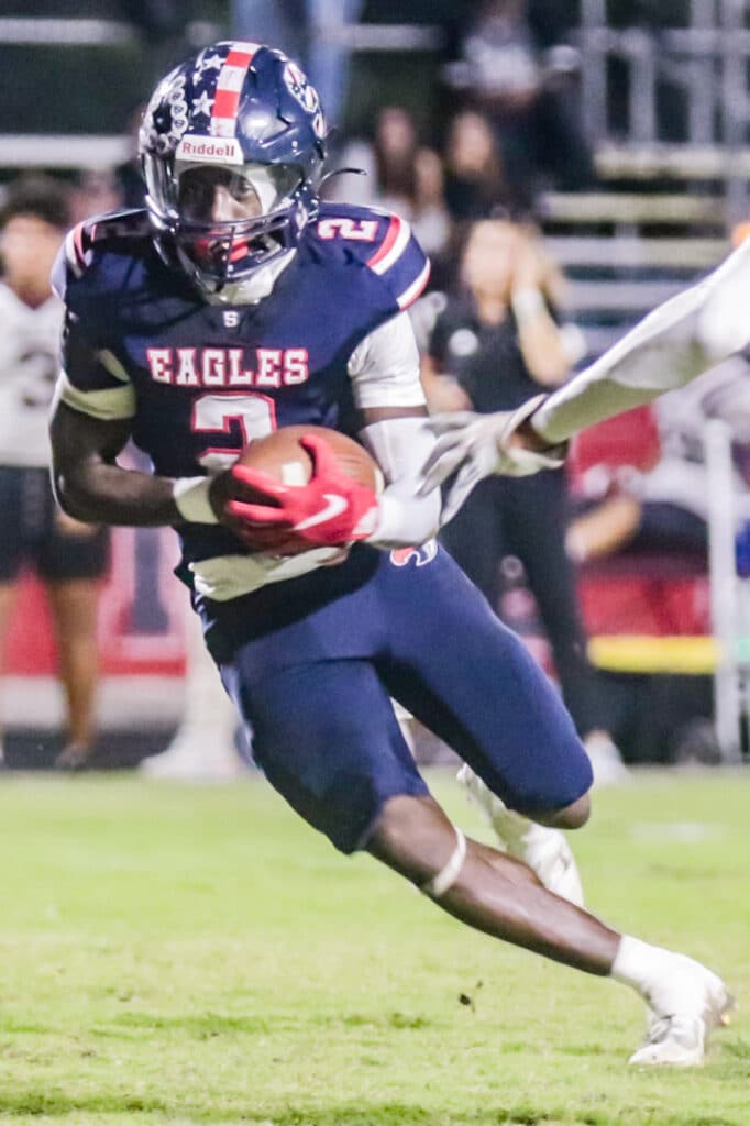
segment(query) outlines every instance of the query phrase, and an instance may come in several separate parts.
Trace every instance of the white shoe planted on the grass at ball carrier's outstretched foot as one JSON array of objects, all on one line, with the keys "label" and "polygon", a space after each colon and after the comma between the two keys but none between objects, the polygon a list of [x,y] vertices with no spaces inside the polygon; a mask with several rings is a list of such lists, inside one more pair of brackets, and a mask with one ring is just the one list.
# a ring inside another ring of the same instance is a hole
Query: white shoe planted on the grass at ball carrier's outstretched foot
[{"label": "white shoe planted on the grass at ball carrier's outstretched foot", "polygon": [[684,954],[670,954],[649,997],[645,1042],[628,1063],[699,1067],[708,1035],[718,1025],[729,1025],[733,1004],[721,977]]}]

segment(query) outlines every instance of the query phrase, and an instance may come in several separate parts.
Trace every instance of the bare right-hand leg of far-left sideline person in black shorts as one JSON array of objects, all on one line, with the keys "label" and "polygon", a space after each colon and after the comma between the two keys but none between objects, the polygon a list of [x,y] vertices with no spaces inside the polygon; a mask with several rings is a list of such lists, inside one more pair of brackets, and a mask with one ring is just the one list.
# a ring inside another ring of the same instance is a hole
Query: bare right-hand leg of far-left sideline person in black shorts
[{"label": "bare right-hand leg of far-left sideline person in black shorts", "polygon": [[68,732],[55,766],[83,770],[95,740],[95,703],[99,683],[97,608],[100,580],[109,562],[106,529],[72,520],[46,494],[44,534],[37,570],[45,582],[57,643],[59,676],[65,694]]}]

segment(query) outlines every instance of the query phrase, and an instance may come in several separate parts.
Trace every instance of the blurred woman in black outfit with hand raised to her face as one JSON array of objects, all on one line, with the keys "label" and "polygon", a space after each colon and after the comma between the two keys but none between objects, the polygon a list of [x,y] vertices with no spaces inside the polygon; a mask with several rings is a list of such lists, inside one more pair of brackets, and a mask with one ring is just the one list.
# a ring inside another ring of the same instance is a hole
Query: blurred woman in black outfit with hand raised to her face
[{"label": "blurred woman in black outfit with hand raised to her face", "polygon": [[[533,227],[501,220],[473,224],[461,278],[462,289],[438,316],[425,360],[431,409],[510,410],[568,377],[581,338],[577,329],[559,324],[564,282]],[[443,536],[495,609],[502,558],[521,561],[595,774],[599,781],[616,780],[624,768],[586,656],[573,569],[564,551],[565,520],[561,473],[489,477]]]}]

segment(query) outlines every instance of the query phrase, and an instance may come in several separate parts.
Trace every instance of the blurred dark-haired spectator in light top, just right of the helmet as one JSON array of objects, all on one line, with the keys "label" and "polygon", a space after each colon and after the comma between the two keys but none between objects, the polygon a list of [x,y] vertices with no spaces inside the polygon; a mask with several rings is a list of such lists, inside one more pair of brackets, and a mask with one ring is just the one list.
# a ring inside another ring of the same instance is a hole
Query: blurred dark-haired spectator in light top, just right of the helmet
[{"label": "blurred dark-haired spectator in light top, just right of the helmet", "polygon": [[402,106],[381,109],[373,143],[352,142],[341,153],[341,166],[366,175],[333,178],[329,198],[393,211],[411,224],[428,254],[445,251],[450,220],[443,194],[441,161],[420,143],[409,110]]}]

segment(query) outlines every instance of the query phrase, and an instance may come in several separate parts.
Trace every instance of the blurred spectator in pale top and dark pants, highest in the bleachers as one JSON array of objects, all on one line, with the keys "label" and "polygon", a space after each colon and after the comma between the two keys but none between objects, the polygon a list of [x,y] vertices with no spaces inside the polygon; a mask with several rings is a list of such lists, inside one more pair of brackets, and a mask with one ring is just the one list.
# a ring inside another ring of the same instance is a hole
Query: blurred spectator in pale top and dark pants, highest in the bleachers
[{"label": "blurred spectator in pale top and dark pants, highest in the bleachers", "polygon": [[526,0],[482,0],[446,68],[448,83],[492,120],[506,175],[532,206],[541,187],[580,190],[596,180],[582,133],[575,51],[546,45],[550,16],[529,18]]}]

